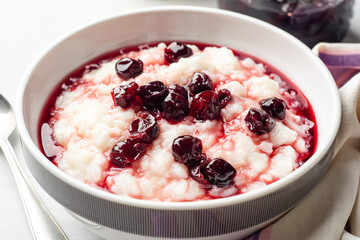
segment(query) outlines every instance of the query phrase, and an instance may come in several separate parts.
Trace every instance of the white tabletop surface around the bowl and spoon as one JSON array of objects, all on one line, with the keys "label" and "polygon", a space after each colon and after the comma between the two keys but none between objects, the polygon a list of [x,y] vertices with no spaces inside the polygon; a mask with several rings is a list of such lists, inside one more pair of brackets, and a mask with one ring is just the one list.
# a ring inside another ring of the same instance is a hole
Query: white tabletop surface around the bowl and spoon
[{"label": "white tabletop surface around the bowl and spoon", "polygon": [[[159,5],[217,7],[216,0],[18,0],[0,5],[0,93],[12,105],[19,82],[33,59],[57,38],[88,22],[124,10]],[[360,43],[360,0],[344,42]],[[1,124],[1,123],[0,123]],[[22,157],[16,134],[10,138]],[[69,239],[101,239],[78,223],[36,185],[41,198]],[[0,151],[0,239],[32,239],[10,168]]]}]

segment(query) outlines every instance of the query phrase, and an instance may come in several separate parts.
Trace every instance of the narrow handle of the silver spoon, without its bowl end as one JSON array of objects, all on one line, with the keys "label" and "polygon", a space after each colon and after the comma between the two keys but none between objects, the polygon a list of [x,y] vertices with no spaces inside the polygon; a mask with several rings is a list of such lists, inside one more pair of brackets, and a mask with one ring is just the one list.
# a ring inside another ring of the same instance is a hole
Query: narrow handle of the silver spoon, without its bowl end
[{"label": "narrow handle of the silver spoon, without its bowl end", "polygon": [[7,138],[0,139],[0,147],[13,172],[33,238],[39,240],[68,239],[36,193],[17,160],[9,140]]}]

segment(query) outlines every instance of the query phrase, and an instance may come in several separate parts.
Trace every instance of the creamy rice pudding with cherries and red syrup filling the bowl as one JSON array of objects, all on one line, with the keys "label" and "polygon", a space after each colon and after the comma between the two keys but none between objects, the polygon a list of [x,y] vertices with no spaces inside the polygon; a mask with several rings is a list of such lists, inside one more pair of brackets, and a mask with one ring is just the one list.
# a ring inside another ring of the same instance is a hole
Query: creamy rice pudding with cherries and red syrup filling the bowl
[{"label": "creamy rice pudding with cherries and red syrup filling the bowl", "polygon": [[283,178],[316,147],[301,91],[226,47],[158,43],[100,57],[64,79],[40,120],[45,155],[114,194],[197,201]]}]

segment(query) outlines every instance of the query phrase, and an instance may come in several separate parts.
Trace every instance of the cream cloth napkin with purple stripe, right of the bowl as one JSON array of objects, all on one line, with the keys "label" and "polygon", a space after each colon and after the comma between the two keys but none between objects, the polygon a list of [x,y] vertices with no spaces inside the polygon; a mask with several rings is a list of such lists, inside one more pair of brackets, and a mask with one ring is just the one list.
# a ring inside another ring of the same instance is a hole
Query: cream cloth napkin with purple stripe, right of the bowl
[{"label": "cream cloth napkin with purple stripe, right of the bowl", "polygon": [[[330,70],[342,70],[339,75],[331,71],[340,79],[342,101],[335,157],[324,178],[302,202],[249,240],[360,240],[360,73],[354,76],[360,68],[360,44],[321,43],[313,51]],[[339,58],[322,58],[323,53]],[[345,59],[346,55],[352,60]]]}]

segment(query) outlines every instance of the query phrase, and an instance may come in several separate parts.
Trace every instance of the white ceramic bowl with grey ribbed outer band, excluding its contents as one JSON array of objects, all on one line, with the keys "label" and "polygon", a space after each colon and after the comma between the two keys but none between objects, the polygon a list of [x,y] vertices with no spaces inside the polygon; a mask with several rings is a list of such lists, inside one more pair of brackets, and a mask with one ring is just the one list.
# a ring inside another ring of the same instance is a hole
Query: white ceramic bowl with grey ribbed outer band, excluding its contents
[{"label": "white ceramic bowl with grey ribbed outer band, excluding its contents", "polygon": [[[65,75],[103,53],[139,43],[186,40],[225,45],[271,63],[300,87],[315,111],[314,155],[259,190],[202,202],[154,202],[112,195],[68,176],[39,150],[38,119]],[[328,107],[331,106],[331,111]],[[340,98],[326,67],[300,41],[259,20],[223,10],[162,7],[80,28],[41,54],[25,74],[16,116],[27,165],[44,190],[107,239],[239,239],[292,208],[324,175],[340,122]]]}]

